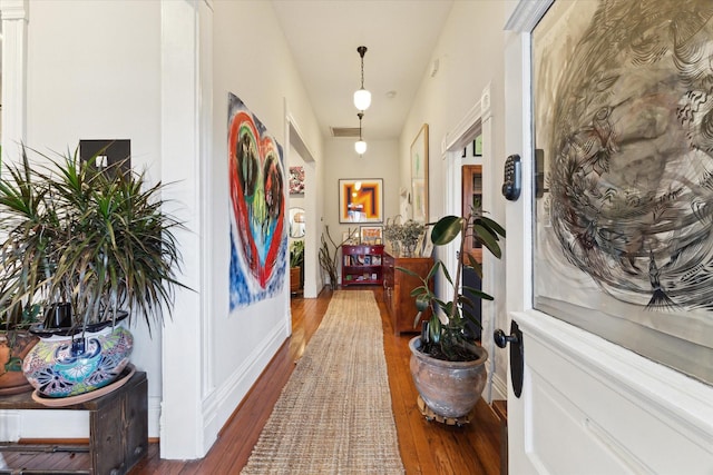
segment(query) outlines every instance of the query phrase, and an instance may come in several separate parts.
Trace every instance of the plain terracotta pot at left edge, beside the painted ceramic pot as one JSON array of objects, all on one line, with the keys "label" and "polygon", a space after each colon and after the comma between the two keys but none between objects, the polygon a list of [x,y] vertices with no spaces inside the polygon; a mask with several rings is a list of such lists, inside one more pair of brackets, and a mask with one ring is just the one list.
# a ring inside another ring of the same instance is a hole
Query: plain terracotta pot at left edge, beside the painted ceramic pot
[{"label": "plain terracotta pot at left edge, beside the painted ceramic pot", "polygon": [[[26,393],[32,386],[22,373],[22,359],[32,349],[39,338],[27,330],[0,333],[0,396]],[[18,358],[17,365],[10,358]]]}]

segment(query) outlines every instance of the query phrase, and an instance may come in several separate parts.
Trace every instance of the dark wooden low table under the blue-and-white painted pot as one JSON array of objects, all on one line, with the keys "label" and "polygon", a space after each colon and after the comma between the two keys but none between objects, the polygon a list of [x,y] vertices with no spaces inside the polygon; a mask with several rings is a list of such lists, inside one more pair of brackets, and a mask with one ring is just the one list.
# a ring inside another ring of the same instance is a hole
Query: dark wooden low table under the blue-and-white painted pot
[{"label": "dark wooden low table under the blue-and-white painted pot", "polygon": [[[48,407],[32,393],[0,396],[0,409],[62,409],[89,412],[89,445],[0,443],[0,452],[89,452],[91,469],[61,473],[121,475],[148,452],[148,382],[136,372],[121,387],[96,399],[65,407]],[[47,473],[37,469],[0,469],[0,474]],[[57,473],[57,472],[56,472]]]}]

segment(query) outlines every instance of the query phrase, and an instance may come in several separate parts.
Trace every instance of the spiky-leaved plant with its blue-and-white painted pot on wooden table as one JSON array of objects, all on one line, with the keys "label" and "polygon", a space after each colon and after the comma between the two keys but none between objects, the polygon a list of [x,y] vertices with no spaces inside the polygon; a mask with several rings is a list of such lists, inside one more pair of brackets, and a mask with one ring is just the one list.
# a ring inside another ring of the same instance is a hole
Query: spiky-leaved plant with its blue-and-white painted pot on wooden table
[{"label": "spiky-leaved plant with its blue-and-white painted pot on wooden table", "polygon": [[[3,164],[0,309],[42,308],[40,343],[22,369],[43,397],[89,393],[124,372],[143,318],[170,311],[179,261],[162,184],[120,166],[97,169],[78,152]],[[125,319],[124,325],[117,325]]]}]

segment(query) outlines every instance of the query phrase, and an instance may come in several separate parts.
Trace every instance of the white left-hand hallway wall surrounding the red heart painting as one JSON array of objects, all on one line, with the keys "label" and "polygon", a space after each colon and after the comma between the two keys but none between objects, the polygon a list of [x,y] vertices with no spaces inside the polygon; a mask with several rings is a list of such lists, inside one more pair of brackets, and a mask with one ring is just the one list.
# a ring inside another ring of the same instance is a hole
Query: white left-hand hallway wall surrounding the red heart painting
[{"label": "white left-hand hallway wall surrounding the red heart painting", "polygon": [[213,7],[214,159],[206,164],[212,182],[208,246],[214,255],[207,287],[213,301],[208,316],[213,388],[204,404],[207,441],[217,436],[290,331],[287,280],[282,294],[228,314],[228,92],[241,98],[283,147],[286,101],[309,149],[316,157],[322,150],[316,120],[272,3],[216,1]]}]

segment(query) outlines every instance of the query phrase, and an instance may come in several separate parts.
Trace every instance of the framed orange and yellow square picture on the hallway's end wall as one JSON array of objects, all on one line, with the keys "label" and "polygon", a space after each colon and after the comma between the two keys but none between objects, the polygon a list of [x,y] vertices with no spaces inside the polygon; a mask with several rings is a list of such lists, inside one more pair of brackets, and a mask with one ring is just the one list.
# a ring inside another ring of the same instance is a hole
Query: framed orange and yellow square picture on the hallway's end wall
[{"label": "framed orange and yellow square picture on the hallway's end wall", "polygon": [[382,222],[383,179],[340,179],[339,221]]}]

